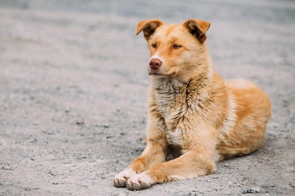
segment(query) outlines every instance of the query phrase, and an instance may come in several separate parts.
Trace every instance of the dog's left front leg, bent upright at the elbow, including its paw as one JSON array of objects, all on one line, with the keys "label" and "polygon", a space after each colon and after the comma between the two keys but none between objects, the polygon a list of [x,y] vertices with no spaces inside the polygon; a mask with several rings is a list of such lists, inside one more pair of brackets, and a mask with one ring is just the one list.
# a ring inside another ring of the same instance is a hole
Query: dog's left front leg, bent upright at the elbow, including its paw
[{"label": "dog's left front leg, bent upright at the elbow, including its paw", "polygon": [[116,187],[125,187],[126,181],[143,171],[151,169],[154,165],[165,161],[168,152],[163,122],[157,119],[148,122],[147,147],[141,156],[136,158],[127,169],[121,171],[114,178]]}]

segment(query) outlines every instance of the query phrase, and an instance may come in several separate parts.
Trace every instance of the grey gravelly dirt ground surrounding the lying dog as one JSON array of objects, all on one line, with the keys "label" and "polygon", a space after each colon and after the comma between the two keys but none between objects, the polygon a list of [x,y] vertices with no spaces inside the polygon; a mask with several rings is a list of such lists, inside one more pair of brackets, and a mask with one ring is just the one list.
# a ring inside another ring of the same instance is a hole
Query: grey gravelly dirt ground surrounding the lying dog
[{"label": "grey gravelly dirt ground surrounding the lying dog", "polygon": [[[149,57],[135,29],[152,18],[210,21],[217,72],[255,82],[273,115],[255,153],[135,192],[113,177],[146,145]],[[294,53],[294,1],[0,0],[0,195],[295,195]]]}]

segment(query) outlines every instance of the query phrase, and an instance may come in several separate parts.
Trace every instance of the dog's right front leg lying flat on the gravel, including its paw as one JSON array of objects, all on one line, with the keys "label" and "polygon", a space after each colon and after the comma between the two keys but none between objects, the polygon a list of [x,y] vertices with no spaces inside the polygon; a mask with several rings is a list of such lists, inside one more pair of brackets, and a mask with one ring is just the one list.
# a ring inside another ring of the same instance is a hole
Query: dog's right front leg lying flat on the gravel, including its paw
[{"label": "dog's right front leg lying flat on the gravel, including its paw", "polygon": [[183,180],[212,174],[215,171],[213,153],[190,150],[177,159],[157,164],[148,171],[144,171],[127,180],[127,187],[131,190],[149,188],[152,184]]}]

